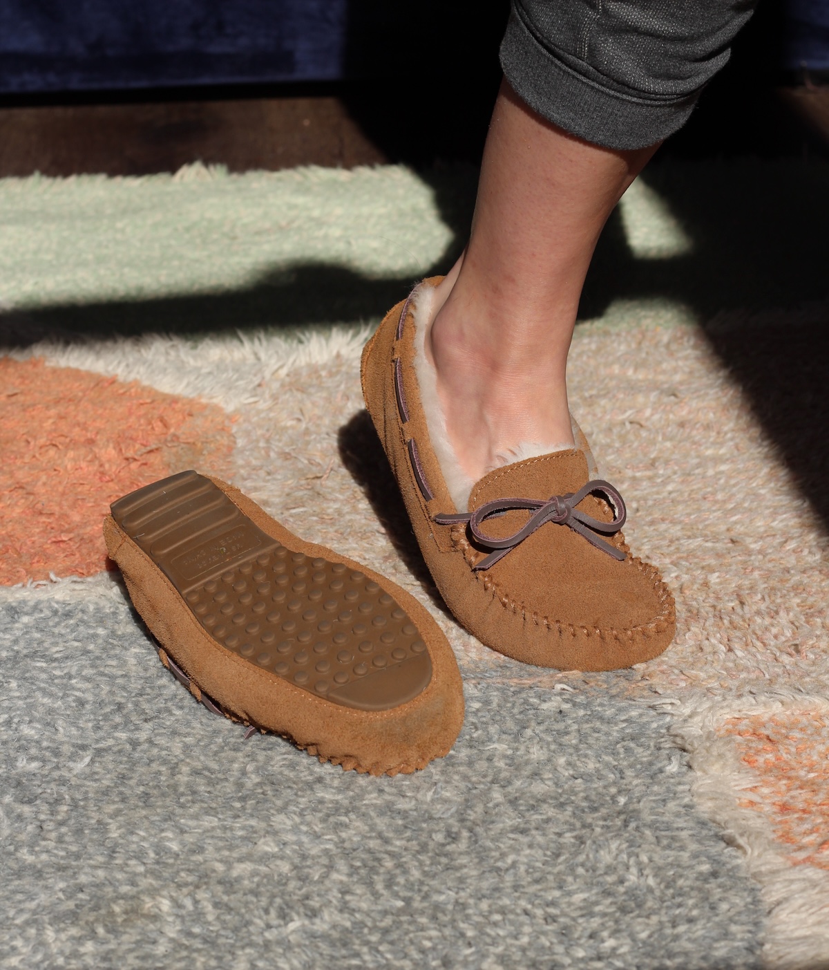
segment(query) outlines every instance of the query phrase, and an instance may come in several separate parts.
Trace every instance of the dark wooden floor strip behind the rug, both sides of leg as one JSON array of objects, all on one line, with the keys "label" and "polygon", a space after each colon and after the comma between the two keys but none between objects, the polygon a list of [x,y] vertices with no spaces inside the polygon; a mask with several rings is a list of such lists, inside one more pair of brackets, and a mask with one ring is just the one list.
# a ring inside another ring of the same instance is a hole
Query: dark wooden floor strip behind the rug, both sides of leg
[{"label": "dark wooden floor strip behind the rug, both sides of leg", "polygon": [[[726,92],[727,93],[727,92]],[[705,100],[707,97],[707,101]],[[746,104],[704,95],[662,154],[829,154],[829,86],[800,86],[749,96]],[[385,99],[385,100],[384,100]],[[452,104],[449,100],[449,104]],[[435,158],[475,161],[486,135],[492,92],[468,97],[462,113],[420,119],[437,95],[401,100],[378,90],[268,97],[0,107],[0,178],[80,173],[175,172],[200,160],[232,172],[297,165],[352,168]],[[439,103],[439,102],[438,102]],[[415,149],[418,150],[415,150]]]}]

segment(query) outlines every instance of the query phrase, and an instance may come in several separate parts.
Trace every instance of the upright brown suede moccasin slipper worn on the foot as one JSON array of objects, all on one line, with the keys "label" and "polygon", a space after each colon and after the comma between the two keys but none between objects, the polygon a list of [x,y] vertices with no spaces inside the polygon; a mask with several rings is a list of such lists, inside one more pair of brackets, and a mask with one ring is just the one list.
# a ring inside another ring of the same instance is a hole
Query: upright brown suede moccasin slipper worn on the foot
[{"label": "upright brown suede moccasin slipper worn on the foot", "polygon": [[517,461],[462,481],[423,351],[437,282],[389,312],[362,378],[441,595],[466,630],[526,663],[610,670],[656,657],[674,635],[674,599],[657,569],[630,555],[622,497],[592,477],[577,427],[576,448],[522,446]]}]

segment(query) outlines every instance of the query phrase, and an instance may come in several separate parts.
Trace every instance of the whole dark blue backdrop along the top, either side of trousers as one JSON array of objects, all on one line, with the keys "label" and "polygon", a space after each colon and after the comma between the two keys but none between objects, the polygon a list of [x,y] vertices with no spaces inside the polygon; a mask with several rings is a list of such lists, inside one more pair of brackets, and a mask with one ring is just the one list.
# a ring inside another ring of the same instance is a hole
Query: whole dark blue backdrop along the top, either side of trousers
[{"label": "whole dark blue backdrop along the top, either side of trousers", "polygon": [[[829,0],[765,3],[784,35],[766,67],[829,69]],[[0,93],[469,75],[482,47],[497,49],[505,10],[506,0],[0,0]]]}]

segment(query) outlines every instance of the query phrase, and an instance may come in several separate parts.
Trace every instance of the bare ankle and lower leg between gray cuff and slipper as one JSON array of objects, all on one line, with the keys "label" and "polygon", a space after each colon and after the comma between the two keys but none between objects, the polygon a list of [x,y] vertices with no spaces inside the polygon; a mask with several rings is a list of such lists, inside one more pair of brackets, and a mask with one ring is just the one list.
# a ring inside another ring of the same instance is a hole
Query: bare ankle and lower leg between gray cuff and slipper
[{"label": "bare ankle and lower leg between gray cuff and slipper", "polygon": [[566,370],[582,286],[607,217],[657,147],[590,145],[501,85],[471,236],[438,286],[427,347],[473,480],[522,441],[573,443]]}]

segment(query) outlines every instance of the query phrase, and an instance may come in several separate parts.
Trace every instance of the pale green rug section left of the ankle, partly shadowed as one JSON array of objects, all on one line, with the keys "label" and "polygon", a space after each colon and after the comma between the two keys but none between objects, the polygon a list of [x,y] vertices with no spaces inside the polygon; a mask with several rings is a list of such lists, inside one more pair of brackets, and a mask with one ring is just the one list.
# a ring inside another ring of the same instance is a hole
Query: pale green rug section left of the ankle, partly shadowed
[{"label": "pale green rug section left of the ankle, partly shadowed", "polygon": [[375,320],[445,269],[469,168],[0,180],[0,331],[209,332]]}]

